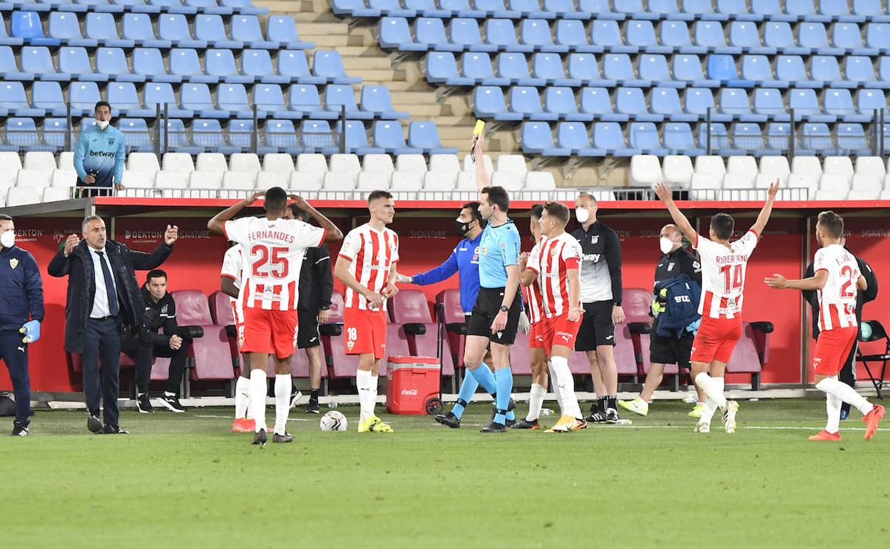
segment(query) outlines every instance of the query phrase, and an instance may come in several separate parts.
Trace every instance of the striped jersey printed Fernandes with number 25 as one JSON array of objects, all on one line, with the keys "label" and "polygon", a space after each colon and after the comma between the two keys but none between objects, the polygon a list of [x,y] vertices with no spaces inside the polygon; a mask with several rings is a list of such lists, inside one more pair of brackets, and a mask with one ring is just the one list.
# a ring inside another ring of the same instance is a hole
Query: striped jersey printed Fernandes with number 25
[{"label": "striped jersey printed Fernandes with number 25", "polygon": [[326,230],[295,219],[242,217],[225,222],[225,236],[241,245],[239,303],[264,311],[296,311],[306,248],[321,246]]}]

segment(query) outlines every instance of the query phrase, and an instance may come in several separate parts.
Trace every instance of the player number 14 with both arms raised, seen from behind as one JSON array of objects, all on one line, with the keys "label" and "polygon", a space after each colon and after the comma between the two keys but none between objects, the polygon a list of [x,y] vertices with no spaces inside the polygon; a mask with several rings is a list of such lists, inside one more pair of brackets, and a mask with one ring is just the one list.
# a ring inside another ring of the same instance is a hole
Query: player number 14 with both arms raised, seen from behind
[{"label": "player number 14 with both arms raised, seen from behind", "polygon": [[708,395],[708,400],[701,410],[695,431],[710,432],[711,417],[716,408],[723,408],[725,430],[735,432],[739,403],[724,397],[724,373],[735,343],[741,337],[742,292],[748,258],[773,213],[779,181],[766,191],[766,204],[757,215],[757,221],[742,238],[734,242],[729,240],[735,226],[731,215],[715,214],[711,217],[710,238],[704,238],[676,207],[671,190],[664,183],[655,185],[655,192],[664,201],[677,228],[692,242],[692,247],[698,250],[701,258],[701,325],[692,341],[690,362],[692,379]]}]

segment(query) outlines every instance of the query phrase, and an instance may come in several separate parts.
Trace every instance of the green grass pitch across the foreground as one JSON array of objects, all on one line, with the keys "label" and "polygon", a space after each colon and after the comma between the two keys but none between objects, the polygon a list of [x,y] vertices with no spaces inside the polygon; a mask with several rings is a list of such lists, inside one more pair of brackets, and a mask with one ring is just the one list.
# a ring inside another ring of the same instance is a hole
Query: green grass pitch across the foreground
[{"label": "green grass pitch across the foreground", "polygon": [[354,432],[356,408],[338,408],[348,432],[319,432],[318,416],[297,409],[294,443],[267,448],[229,432],[228,408],[126,411],[121,425],[132,434],[113,437],[87,433],[83,412],[41,411],[28,439],[0,439],[0,539],[4,547],[886,546],[890,432],[862,440],[854,410],[843,442],[813,443],[806,437],[824,426],[822,401],[740,404],[735,435],[716,422],[709,435],[692,433],[682,403],[658,402],[632,426],[565,435],[481,434],[486,404],[473,405],[459,431],[426,416],[382,415],[396,430],[389,436]]}]

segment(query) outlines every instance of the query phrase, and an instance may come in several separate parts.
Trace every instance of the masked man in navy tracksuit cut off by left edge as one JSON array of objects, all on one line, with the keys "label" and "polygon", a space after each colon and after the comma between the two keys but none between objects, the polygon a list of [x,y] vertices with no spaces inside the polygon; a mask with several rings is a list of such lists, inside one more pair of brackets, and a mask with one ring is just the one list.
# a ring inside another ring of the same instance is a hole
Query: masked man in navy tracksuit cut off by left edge
[{"label": "masked man in navy tracksuit cut off by left edge", "polygon": [[0,359],[15,393],[14,436],[27,437],[31,415],[28,344],[40,339],[44,286],[34,256],[15,246],[15,224],[0,214]]}]

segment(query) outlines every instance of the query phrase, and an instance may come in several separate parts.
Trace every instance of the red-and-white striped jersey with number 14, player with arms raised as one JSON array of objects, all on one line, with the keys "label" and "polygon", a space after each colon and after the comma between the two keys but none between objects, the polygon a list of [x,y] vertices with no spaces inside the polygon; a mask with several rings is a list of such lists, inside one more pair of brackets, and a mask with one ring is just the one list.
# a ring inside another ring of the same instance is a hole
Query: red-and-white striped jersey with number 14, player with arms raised
[{"label": "red-and-white striped jersey with number 14, player with arms raised", "polygon": [[694,247],[701,258],[701,302],[699,314],[711,319],[734,319],[741,314],[742,292],[748,258],[757,246],[757,233],[726,247],[696,235]]}]

